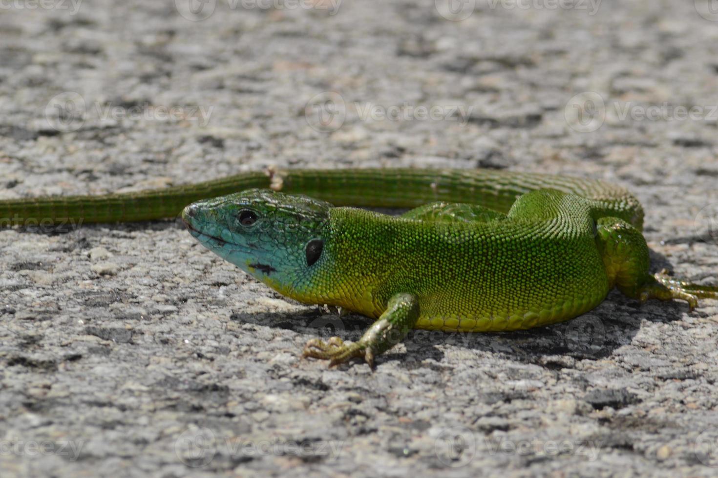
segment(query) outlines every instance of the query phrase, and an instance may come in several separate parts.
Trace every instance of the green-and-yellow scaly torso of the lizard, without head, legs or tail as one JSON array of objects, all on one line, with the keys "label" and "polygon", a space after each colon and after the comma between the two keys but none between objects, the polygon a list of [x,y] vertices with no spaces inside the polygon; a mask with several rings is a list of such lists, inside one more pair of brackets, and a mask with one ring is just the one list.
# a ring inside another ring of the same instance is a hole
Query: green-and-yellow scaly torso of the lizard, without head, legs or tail
[{"label": "green-and-yellow scaly torso of the lizard, without head, legs or tail", "polygon": [[516,330],[566,320],[609,290],[588,203],[536,191],[505,220],[487,222],[331,209],[322,259],[282,292],[370,317],[393,295],[411,292],[421,311],[416,327],[425,329]]}]

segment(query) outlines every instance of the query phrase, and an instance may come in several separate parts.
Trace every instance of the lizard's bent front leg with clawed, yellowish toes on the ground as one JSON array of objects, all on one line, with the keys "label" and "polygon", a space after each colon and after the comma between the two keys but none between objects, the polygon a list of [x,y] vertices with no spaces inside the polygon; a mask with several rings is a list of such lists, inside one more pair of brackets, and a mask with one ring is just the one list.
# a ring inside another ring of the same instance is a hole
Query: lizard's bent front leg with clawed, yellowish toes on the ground
[{"label": "lizard's bent front leg with clawed, yellowish toes on the ground", "polygon": [[386,311],[362,335],[358,342],[343,342],[332,337],[328,342],[312,339],[304,346],[304,357],[330,359],[329,366],[344,363],[353,357],[363,357],[374,368],[376,355],[401,342],[419,319],[419,301],[412,294],[391,297]]}]

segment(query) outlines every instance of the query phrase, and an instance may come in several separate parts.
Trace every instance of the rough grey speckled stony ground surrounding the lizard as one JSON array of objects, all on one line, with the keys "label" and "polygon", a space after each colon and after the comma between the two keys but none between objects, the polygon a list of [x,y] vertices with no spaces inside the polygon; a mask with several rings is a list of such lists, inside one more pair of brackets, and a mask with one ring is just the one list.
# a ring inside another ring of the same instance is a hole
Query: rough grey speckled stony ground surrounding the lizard
[{"label": "rough grey speckled stony ground surrounding the lizard", "polygon": [[[552,171],[628,186],[656,269],[717,283],[709,3],[447,5],[5,2],[0,198],[273,164]],[[0,257],[2,477],[718,473],[716,301],[415,333],[370,373],[298,357],[362,317],[174,221],[6,229]]]}]

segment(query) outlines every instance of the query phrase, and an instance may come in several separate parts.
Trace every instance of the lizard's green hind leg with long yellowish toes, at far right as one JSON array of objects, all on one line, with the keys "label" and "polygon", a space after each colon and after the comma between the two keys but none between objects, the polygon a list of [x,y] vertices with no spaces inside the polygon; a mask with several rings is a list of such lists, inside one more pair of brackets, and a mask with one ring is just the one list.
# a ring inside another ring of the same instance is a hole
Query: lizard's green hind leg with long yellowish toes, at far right
[{"label": "lizard's green hind leg with long yellowish toes, at far right", "polygon": [[673,279],[665,269],[650,274],[648,245],[643,234],[622,219],[604,217],[596,225],[596,241],[610,284],[628,297],[641,302],[685,300],[691,310],[698,305],[699,298],[718,298],[718,287]]}]

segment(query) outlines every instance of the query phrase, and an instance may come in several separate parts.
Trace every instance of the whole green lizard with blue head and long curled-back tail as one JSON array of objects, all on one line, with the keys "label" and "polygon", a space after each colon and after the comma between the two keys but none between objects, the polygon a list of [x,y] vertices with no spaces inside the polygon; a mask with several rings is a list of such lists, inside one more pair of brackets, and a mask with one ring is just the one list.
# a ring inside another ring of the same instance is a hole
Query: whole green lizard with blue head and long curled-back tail
[{"label": "whole green lizard with blue head and long curled-back tail", "polygon": [[[415,209],[388,216],[337,207],[344,205]],[[641,302],[685,300],[691,310],[698,298],[718,297],[718,287],[650,274],[638,200],[581,178],[289,170],[141,193],[0,201],[3,224],[180,211],[205,247],[281,294],[376,319],[356,343],[309,340],[304,355],[330,366],[353,357],[373,366],[411,328],[487,332],[569,320],[612,287]]]}]

